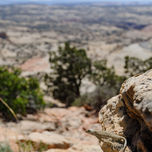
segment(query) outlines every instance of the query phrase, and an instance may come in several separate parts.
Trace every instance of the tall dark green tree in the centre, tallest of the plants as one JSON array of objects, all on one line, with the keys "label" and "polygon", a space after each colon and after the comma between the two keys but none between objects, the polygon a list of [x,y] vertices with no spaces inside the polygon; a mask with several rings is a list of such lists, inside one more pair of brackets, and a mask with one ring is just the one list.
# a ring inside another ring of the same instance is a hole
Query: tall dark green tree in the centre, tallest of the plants
[{"label": "tall dark green tree in the centre, tallest of the plants", "polygon": [[57,52],[50,53],[53,73],[46,75],[48,87],[53,87],[53,96],[67,106],[80,96],[82,79],[91,71],[91,60],[85,50],[65,43]]}]

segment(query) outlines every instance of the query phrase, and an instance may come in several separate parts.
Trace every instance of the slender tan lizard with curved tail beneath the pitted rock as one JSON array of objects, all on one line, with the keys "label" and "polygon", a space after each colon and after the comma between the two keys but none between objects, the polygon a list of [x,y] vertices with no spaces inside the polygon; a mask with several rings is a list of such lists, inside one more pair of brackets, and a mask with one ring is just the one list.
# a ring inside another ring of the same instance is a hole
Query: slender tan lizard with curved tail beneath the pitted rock
[{"label": "slender tan lizard with curved tail beneath the pitted rock", "polygon": [[[101,130],[94,130],[94,129],[89,129],[87,130],[87,133],[92,134],[96,136],[99,141],[102,141],[103,139],[111,138],[112,141],[117,141],[119,143],[122,143],[123,141],[123,147],[121,148],[120,152],[125,152],[126,146],[127,146],[127,140],[123,136],[116,135],[114,133],[110,133],[107,131],[101,131]],[[111,142],[109,142],[111,143]]]}]

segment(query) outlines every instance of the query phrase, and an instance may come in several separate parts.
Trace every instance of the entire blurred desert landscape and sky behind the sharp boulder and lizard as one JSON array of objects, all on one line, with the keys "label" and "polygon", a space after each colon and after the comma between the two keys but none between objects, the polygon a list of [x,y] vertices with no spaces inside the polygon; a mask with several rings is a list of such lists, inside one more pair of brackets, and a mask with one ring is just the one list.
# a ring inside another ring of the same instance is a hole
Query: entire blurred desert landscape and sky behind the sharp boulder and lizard
[{"label": "entire blurred desert landscape and sky behind the sharp boulder and lizard", "polygon": [[151,0],[0,0],[2,149],[101,151],[85,130],[151,57]]}]

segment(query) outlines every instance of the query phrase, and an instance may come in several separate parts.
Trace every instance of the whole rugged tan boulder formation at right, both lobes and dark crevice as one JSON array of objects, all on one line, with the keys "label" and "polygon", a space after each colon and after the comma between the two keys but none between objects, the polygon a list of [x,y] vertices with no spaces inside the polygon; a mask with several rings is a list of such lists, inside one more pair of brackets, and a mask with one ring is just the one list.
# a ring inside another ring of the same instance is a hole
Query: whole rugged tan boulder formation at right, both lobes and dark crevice
[{"label": "whole rugged tan boulder formation at right, both lobes and dark crevice", "polygon": [[[129,78],[120,94],[99,112],[102,130],[127,138],[126,151],[150,152],[152,144],[152,70]],[[101,143],[106,151],[106,143]],[[112,150],[111,150],[112,151]]]}]

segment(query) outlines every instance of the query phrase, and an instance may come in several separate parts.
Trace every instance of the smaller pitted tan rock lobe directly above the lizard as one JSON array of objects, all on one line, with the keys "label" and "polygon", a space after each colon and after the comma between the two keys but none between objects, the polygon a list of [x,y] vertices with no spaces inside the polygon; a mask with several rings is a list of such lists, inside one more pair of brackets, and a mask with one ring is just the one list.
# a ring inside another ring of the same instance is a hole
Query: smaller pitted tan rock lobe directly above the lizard
[{"label": "smaller pitted tan rock lobe directly above the lizard", "polygon": [[124,117],[124,104],[120,101],[120,96],[111,98],[99,112],[102,130],[123,135],[123,128],[126,124]]}]

